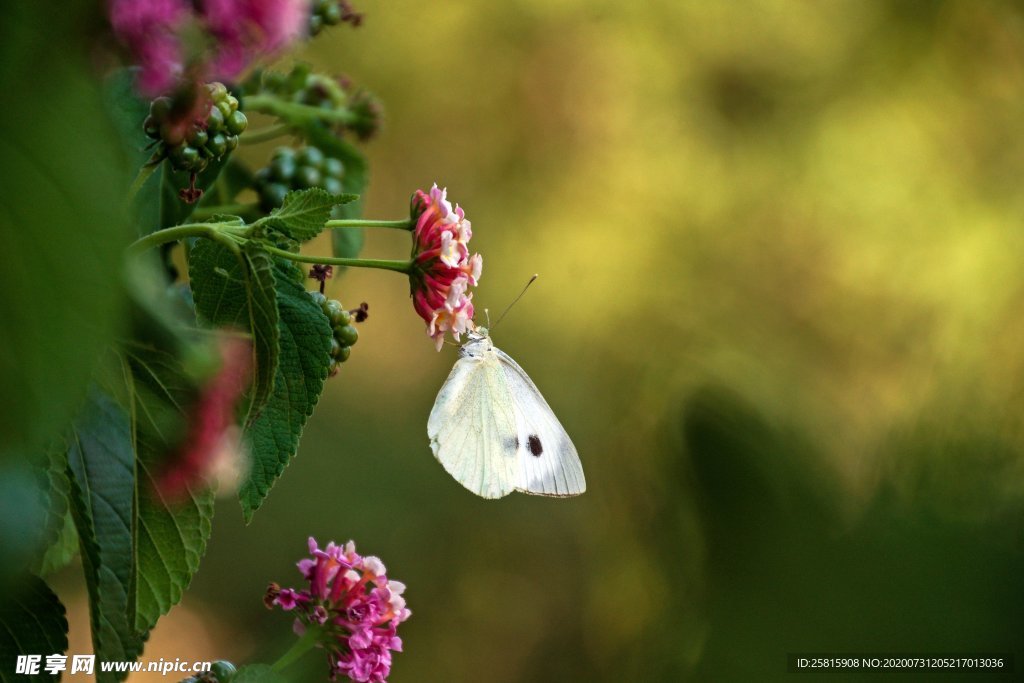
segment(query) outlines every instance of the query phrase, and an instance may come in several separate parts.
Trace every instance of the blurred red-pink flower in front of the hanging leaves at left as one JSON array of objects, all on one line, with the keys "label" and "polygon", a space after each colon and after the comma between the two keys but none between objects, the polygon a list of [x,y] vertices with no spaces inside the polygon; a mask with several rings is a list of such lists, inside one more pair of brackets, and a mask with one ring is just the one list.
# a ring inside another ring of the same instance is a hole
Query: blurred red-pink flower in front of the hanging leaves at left
[{"label": "blurred red-pink flower in front of the hanging leaves at left", "polygon": [[157,479],[161,495],[174,498],[204,483],[222,463],[219,457],[237,454],[234,408],[249,384],[252,344],[242,337],[220,340],[220,370],[203,387],[189,412],[188,433]]}]

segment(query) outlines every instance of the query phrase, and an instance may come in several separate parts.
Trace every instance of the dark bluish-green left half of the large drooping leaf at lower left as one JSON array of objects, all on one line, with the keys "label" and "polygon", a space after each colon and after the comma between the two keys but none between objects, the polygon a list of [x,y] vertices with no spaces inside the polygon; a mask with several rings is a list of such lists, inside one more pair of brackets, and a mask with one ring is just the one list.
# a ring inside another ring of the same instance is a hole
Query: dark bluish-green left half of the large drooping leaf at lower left
[{"label": "dark bluish-green left half of the large drooping leaf at lower left", "polygon": [[[98,659],[134,660],[144,641],[134,627],[136,510],[131,436],[124,409],[91,388],[70,439],[68,469]],[[125,676],[96,671],[100,683]]]}]

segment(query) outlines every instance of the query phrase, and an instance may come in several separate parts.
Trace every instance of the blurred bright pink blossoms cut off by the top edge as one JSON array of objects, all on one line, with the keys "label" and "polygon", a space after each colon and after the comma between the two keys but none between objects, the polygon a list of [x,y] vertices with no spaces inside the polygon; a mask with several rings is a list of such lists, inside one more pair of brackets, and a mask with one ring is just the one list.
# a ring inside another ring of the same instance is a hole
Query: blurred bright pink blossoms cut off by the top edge
[{"label": "blurred bright pink blossoms cut off by the top edge", "polygon": [[[140,68],[139,89],[159,95],[186,76],[230,80],[285,47],[308,25],[309,0],[110,0],[110,16]],[[196,29],[208,40],[189,44]]]}]

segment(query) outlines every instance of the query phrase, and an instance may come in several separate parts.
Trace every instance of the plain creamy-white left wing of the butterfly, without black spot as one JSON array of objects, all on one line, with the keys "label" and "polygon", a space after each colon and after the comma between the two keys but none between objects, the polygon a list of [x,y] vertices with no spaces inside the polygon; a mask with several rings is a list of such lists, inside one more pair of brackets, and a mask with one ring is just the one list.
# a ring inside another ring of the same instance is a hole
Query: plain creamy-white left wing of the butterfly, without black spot
[{"label": "plain creamy-white left wing of the butterfly, without black spot", "polygon": [[447,473],[477,496],[501,498],[516,488],[516,416],[494,351],[456,361],[430,411],[427,435]]}]

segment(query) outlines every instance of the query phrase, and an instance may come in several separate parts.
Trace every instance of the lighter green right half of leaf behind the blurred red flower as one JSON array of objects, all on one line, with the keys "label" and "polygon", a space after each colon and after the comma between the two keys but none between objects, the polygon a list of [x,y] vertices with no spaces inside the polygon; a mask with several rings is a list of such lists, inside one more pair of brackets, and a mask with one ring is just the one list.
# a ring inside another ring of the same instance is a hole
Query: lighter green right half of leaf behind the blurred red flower
[{"label": "lighter green right half of leaf behind the blurred red flower", "polygon": [[145,632],[181,595],[199,569],[213,519],[213,492],[189,490],[165,501],[157,494],[156,473],[179,445],[180,429],[196,398],[195,379],[181,360],[152,346],[126,344],[135,403],[138,454],[138,588],[135,628]]}]

